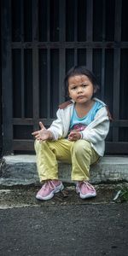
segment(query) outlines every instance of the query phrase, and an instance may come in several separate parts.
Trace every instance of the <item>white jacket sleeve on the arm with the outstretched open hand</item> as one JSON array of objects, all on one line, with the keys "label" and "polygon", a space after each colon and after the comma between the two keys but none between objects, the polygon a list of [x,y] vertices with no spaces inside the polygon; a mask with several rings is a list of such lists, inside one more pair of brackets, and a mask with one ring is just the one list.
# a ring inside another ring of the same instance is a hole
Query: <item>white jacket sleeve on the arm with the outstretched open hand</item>
[{"label": "white jacket sleeve on the arm with the outstretched open hand", "polygon": [[62,118],[61,118],[61,109],[57,110],[56,117],[57,117],[57,119],[55,119],[52,122],[52,124],[50,125],[50,127],[48,129],[49,131],[52,132],[54,140],[58,140],[63,135],[64,127],[63,127],[63,122],[62,122]]}]

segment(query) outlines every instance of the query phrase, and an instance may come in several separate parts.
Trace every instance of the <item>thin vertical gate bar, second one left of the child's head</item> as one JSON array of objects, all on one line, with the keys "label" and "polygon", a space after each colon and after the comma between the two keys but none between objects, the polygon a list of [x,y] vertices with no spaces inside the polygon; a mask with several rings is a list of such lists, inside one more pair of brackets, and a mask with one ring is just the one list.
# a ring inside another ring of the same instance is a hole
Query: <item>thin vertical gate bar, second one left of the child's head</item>
[{"label": "thin vertical gate bar, second one left of the child's head", "polygon": [[[47,1],[47,41],[50,40],[50,22],[49,22],[50,6],[49,0]],[[50,48],[47,50],[47,118],[50,118]]]}]

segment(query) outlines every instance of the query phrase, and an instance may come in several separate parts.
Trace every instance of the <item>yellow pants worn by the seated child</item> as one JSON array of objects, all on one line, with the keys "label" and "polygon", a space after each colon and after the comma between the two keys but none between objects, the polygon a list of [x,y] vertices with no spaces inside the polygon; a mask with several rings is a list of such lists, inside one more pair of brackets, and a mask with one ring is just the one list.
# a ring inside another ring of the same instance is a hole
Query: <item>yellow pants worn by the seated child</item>
[{"label": "yellow pants worn by the seated child", "polygon": [[90,178],[90,165],[99,159],[90,143],[84,140],[70,142],[60,139],[41,143],[36,140],[35,150],[40,182],[58,179],[58,160],[72,164],[73,181],[87,181]]}]

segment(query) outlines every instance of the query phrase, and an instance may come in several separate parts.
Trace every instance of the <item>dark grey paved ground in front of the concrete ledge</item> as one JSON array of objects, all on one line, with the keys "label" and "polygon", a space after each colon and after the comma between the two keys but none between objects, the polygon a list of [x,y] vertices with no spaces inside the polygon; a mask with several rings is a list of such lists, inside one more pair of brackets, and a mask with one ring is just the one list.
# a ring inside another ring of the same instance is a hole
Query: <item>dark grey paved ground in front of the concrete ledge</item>
[{"label": "dark grey paved ground in front of the concrete ledge", "polygon": [[0,255],[128,255],[128,203],[115,203],[120,185],[97,186],[93,200],[69,187],[35,200],[38,188],[0,190]]}]

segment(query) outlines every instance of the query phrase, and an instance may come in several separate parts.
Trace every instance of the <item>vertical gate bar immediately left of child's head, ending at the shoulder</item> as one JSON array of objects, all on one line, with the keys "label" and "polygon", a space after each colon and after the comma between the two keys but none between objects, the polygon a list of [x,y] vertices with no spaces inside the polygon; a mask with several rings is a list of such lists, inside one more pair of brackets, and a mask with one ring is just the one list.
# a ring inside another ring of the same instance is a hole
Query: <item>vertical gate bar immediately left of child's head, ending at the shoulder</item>
[{"label": "vertical gate bar immediately left of child's head, ending at the shoulder", "polygon": [[59,49],[59,103],[64,102],[65,93],[63,90],[63,80],[66,73],[66,53],[64,42],[66,41],[66,1],[59,1],[59,22],[60,22],[60,33],[59,41],[63,44],[63,47]]}]

